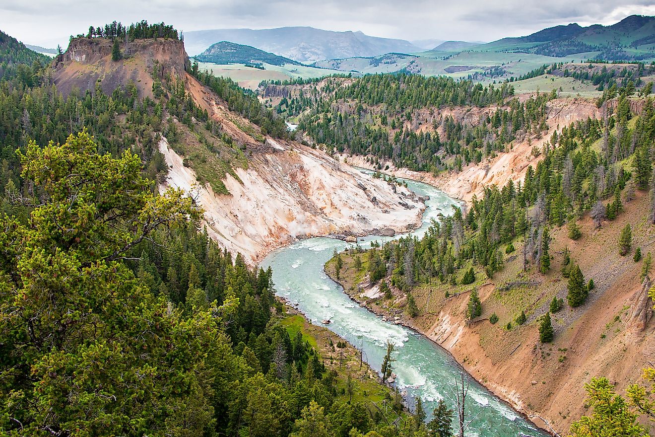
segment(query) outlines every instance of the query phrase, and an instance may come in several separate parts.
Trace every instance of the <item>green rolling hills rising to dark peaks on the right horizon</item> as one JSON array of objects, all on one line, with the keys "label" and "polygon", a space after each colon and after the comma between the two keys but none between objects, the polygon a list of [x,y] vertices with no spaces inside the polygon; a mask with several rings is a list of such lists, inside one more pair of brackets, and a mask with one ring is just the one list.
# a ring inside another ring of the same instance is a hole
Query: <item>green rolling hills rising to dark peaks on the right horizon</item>
[{"label": "green rolling hills rising to dark peaks on the right horizon", "polygon": [[655,17],[628,16],[612,26],[555,26],[486,44],[446,41],[426,52],[322,60],[312,65],[364,74],[407,71],[493,82],[520,77],[544,64],[584,60],[655,60]]}]

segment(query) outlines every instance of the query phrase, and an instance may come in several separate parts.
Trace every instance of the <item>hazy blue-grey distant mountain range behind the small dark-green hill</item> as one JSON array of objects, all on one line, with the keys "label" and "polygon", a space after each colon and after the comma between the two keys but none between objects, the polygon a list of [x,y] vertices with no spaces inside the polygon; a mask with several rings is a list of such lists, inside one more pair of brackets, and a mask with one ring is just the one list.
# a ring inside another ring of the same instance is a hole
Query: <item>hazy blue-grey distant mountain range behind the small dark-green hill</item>
[{"label": "hazy blue-grey distant mountain range behind the small dark-green hill", "polygon": [[202,53],[218,41],[257,47],[299,62],[354,56],[378,56],[390,52],[413,53],[423,49],[402,39],[379,38],[360,31],[335,32],[309,27],[276,29],[214,29],[184,33],[189,55]]}]

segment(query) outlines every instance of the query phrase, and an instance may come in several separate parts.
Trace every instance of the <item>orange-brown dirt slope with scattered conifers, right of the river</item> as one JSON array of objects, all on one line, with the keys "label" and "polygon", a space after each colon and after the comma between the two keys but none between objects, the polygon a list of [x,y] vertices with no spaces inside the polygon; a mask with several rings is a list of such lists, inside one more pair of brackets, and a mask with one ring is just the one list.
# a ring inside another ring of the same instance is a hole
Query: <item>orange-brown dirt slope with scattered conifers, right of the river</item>
[{"label": "orange-brown dirt slope with scattered conifers, right of the river", "polygon": [[[413,290],[422,315],[414,319],[403,315],[403,323],[453,353],[478,381],[526,413],[536,425],[567,435],[571,422],[590,412],[584,403],[584,384],[591,377],[606,376],[623,393],[627,385],[641,381],[641,370],[652,366],[655,356],[653,302],[646,294],[649,283],[641,282],[642,263],[635,263],[632,254],[618,254],[618,237],[626,223],[633,227],[633,250],[641,247],[643,254],[655,253],[655,225],[645,219],[648,195],[637,194],[637,199],[624,205],[625,211],[616,220],[603,223],[602,229],[595,229],[588,217],[580,221],[580,240],[570,240],[566,227],[553,229],[554,259],[547,275],[523,273],[521,256],[509,255],[504,269],[491,280],[479,275],[470,286]],[[554,295],[566,301],[567,278],[561,275],[565,247],[571,250],[571,259],[580,265],[585,279],[593,278],[595,290],[582,307],[565,305],[552,314],[555,339],[542,345],[538,341],[538,318],[548,311]],[[515,254],[521,250],[517,246]],[[344,265],[352,266],[348,257],[344,261]],[[341,275],[345,290],[358,290],[349,280]],[[384,307],[386,304],[370,299],[374,294],[365,282],[354,297],[377,313],[395,316]],[[516,282],[535,286],[501,287]],[[474,287],[483,313],[469,324],[466,305]],[[445,290],[451,297],[444,297]],[[404,294],[394,292],[396,304],[403,305]],[[515,317],[522,309],[528,320],[517,326]],[[489,323],[493,313],[500,318],[495,325]],[[513,325],[511,330],[506,329],[508,322]]]}]

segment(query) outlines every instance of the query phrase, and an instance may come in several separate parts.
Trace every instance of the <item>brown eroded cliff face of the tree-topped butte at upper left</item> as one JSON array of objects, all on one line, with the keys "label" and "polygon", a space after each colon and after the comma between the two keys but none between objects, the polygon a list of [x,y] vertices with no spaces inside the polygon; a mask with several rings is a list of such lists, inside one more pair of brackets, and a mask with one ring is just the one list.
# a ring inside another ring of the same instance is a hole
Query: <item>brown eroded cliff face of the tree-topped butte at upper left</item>
[{"label": "brown eroded cliff face of the tree-topped butte at upper left", "polygon": [[153,97],[153,75],[183,77],[189,58],[182,41],[138,39],[121,41],[123,58],[111,60],[113,42],[106,38],[75,38],[62,56],[56,57],[52,80],[64,95],[77,88],[82,93],[92,92],[96,83],[107,95],[130,81],[139,97]]}]

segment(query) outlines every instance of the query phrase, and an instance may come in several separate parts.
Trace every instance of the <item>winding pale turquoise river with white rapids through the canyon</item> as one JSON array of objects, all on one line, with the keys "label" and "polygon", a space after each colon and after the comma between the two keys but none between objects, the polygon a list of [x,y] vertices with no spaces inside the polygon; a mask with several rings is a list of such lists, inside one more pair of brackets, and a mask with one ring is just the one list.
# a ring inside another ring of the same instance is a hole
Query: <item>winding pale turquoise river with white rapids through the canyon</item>
[{"label": "winding pale turquoise river with white rapids through the canyon", "polygon": [[[452,214],[453,205],[461,204],[460,201],[425,183],[407,180],[407,186],[418,195],[430,196],[430,200],[426,201],[427,208],[422,217],[422,225],[413,231],[419,238],[426,232],[432,219],[438,219],[440,214]],[[369,236],[360,241],[360,245],[367,248],[372,241],[383,242],[393,238]],[[455,377],[460,374],[457,362],[423,335],[403,326],[384,322],[379,316],[360,307],[323,271],[324,264],[332,257],[333,250],[341,251],[350,246],[354,244],[333,238],[309,238],[272,252],[261,265],[272,267],[277,295],[296,305],[314,324],[324,319],[331,320],[327,328],[356,347],[362,347],[364,360],[375,370],[380,371],[386,352],[386,341],[393,341],[396,345],[396,385],[401,391],[407,391],[410,404],[415,396],[421,396],[428,420],[440,399],[445,400],[449,408],[457,411]],[[466,402],[467,421],[472,419],[466,436],[548,435],[473,378]],[[455,426],[457,418],[453,419]]]}]

